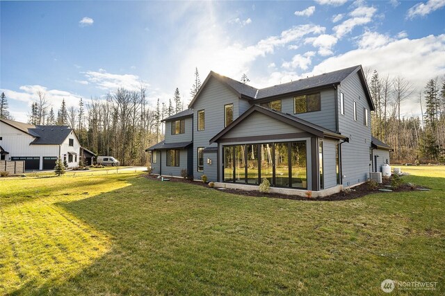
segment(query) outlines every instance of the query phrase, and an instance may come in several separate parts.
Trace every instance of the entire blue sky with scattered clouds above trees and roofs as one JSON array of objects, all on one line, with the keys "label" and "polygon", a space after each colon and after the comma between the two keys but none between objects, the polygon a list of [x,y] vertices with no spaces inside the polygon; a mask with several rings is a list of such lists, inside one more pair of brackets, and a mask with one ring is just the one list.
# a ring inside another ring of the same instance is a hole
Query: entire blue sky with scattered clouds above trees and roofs
[{"label": "entire blue sky with scattered clouds above trees and roofs", "polygon": [[[445,0],[1,1],[0,89],[26,121],[38,90],[54,109],[116,87],[147,86],[149,102],[195,67],[267,87],[362,64],[423,90],[445,74]],[[403,104],[419,113],[418,96]]]}]

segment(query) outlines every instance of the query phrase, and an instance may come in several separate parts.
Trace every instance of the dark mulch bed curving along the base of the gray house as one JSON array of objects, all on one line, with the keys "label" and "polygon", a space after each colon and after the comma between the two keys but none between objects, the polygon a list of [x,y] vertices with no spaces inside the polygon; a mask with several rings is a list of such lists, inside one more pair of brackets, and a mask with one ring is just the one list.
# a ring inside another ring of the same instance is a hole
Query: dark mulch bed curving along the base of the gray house
[{"label": "dark mulch bed curving along the base of the gray house", "polygon": [[[147,179],[156,180],[161,182],[161,179],[157,178],[155,175],[145,175]],[[188,184],[194,184],[198,186],[203,186],[206,188],[209,188],[209,185],[200,182],[200,181],[191,181],[186,180],[182,178],[177,177],[169,177],[169,182],[180,182],[180,183],[188,183]],[[383,178],[383,183],[378,184],[378,188],[373,189],[369,184],[366,182],[364,184],[361,184],[359,186],[355,186],[351,189],[347,189],[345,191],[341,191],[339,193],[335,193],[332,195],[325,196],[323,198],[306,198],[299,195],[286,195],[282,193],[262,193],[257,190],[254,191],[247,191],[247,190],[241,190],[241,189],[213,189],[218,190],[226,193],[232,193],[236,195],[246,195],[246,196],[253,196],[253,197],[259,197],[259,198],[282,198],[286,200],[307,200],[307,201],[335,201],[335,200],[354,200],[355,198],[362,198],[365,195],[371,194],[371,193],[386,193],[385,191],[379,191],[378,189],[391,189],[392,192],[404,192],[404,191],[418,191],[418,189],[426,189],[426,187],[423,186],[417,186],[414,184],[402,184],[398,189],[392,189],[385,186],[391,185],[391,178],[385,177]]]}]

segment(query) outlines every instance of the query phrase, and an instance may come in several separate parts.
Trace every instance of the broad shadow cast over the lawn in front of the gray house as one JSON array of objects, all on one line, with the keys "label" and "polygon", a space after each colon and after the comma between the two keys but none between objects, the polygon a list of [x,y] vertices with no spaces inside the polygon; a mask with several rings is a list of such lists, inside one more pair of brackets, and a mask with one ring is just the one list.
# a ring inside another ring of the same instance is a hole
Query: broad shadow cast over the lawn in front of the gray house
[{"label": "broad shadow cast over the lawn in front of the gray house", "polygon": [[[426,180],[416,177],[415,182],[443,191],[437,183],[442,178],[437,179],[423,184]],[[388,277],[413,280],[421,274],[439,281],[442,274],[443,229],[439,237],[428,237],[437,247],[427,245],[423,234],[414,241],[387,236],[422,217],[411,211],[394,216],[386,207],[374,207],[375,200],[308,203],[236,197],[144,178],[129,182],[118,191],[57,204],[110,234],[109,252],[62,283],[35,287],[30,282],[12,295],[379,295],[380,282]],[[436,193],[419,192],[407,202],[426,202],[422,196]],[[386,196],[391,208],[397,199]],[[443,223],[444,204],[435,199],[434,205],[440,207],[432,214],[435,223]],[[412,250],[419,251],[407,261],[375,255]]]}]

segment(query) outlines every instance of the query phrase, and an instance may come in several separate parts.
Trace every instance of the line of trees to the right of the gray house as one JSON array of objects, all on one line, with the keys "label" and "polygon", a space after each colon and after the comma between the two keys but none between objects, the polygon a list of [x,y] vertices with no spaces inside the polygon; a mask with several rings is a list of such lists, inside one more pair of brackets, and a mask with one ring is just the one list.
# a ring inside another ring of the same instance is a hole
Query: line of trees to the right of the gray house
[{"label": "line of trees to the right of the gray house", "polygon": [[[389,144],[391,162],[426,164],[445,162],[445,77],[430,78],[424,89],[415,89],[401,77],[366,69],[375,112],[372,134]],[[420,116],[403,116],[408,100],[419,105]]]}]

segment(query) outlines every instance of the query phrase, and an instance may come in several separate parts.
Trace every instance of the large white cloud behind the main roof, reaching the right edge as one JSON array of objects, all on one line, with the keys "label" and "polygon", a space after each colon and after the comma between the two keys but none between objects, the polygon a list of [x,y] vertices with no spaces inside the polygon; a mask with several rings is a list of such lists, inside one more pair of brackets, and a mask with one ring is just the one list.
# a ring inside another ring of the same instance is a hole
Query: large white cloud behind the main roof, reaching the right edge
[{"label": "large white cloud behind the main roof, reaching the right edge", "polygon": [[[407,50],[410,49],[410,50]],[[329,71],[362,64],[391,77],[403,76],[417,89],[423,91],[428,79],[445,74],[445,34],[429,35],[420,39],[393,40],[375,48],[355,49],[337,55],[312,69],[303,76],[318,75]],[[404,114],[416,114],[417,98],[404,103]]]}]

